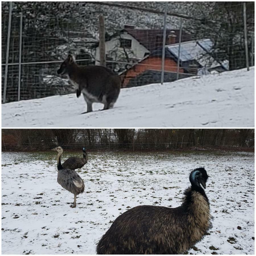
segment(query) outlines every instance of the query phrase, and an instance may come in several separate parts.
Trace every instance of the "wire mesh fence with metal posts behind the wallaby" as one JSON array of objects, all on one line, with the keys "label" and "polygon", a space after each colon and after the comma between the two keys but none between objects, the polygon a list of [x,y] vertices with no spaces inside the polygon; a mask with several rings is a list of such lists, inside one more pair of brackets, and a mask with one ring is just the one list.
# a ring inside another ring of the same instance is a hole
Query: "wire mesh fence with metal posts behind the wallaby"
[{"label": "wire mesh fence with metal posts behind the wallaby", "polygon": [[68,53],[105,58],[122,87],[249,68],[254,2],[2,2],[3,103],[73,93],[56,74]]}]

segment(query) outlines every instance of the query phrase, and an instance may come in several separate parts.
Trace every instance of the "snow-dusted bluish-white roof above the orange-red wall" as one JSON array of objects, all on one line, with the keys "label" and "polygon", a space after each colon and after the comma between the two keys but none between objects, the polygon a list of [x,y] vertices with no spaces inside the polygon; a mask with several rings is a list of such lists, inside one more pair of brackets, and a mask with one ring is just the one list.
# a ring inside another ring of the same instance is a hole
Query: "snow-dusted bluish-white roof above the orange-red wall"
[{"label": "snow-dusted bluish-white roof above the orange-red wall", "polygon": [[[181,43],[180,60],[196,60],[202,67],[214,68],[221,64],[215,61],[209,54],[213,46],[210,39],[194,40]],[[167,46],[168,50],[178,58],[179,44]]]}]

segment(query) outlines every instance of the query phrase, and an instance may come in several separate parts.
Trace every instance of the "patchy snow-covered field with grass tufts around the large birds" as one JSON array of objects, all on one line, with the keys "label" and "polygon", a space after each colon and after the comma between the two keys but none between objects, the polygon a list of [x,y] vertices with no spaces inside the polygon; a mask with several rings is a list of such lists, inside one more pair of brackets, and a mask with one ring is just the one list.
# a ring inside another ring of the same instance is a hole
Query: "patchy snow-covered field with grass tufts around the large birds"
[{"label": "patchy snow-covered field with grass tufts around the large birds", "polygon": [[[79,153],[64,152],[63,160]],[[57,183],[56,154],[2,153],[2,253],[95,254],[117,216],[140,204],[177,207],[189,172],[205,166],[213,228],[192,254],[254,254],[254,153],[89,152],[85,193]],[[241,227],[240,228],[238,228]]]}]

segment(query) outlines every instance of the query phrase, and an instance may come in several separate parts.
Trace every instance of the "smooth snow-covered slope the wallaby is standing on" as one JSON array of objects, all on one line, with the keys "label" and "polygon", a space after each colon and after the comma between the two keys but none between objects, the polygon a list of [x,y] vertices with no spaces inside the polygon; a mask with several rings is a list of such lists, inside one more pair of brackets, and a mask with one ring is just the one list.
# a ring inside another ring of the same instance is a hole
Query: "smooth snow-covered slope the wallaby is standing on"
[{"label": "smooth snow-covered slope the wallaby is standing on", "polygon": [[11,102],[2,127],[254,127],[254,67],[123,88],[113,109],[85,111],[75,94]]}]

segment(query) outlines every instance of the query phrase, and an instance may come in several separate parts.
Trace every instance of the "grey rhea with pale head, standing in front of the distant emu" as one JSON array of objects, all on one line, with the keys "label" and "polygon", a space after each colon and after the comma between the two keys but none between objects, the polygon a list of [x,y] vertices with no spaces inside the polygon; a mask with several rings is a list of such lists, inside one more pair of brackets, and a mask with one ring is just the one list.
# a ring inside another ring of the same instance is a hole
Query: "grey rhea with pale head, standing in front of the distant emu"
[{"label": "grey rhea with pale head, standing in front of the distant emu", "polygon": [[75,172],[74,170],[63,168],[61,165],[61,155],[63,153],[62,147],[58,146],[57,148],[53,148],[52,150],[56,150],[58,152],[57,155],[57,168],[58,168],[58,177],[57,182],[61,187],[66,189],[67,191],[74,194],[74,205],[71,207],[77,206],[77,195],[84,192],[84,181],[82,178]]}]

